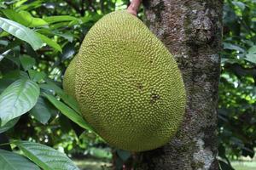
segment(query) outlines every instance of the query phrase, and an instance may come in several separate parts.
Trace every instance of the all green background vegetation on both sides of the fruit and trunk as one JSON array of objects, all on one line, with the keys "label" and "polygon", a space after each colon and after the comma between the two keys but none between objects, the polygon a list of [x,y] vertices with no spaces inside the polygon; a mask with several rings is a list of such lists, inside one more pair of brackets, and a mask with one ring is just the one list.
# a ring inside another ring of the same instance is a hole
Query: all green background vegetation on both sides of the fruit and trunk
[{"label": "all green background vegetation on both sides of the fruit and trunk", "polygon": [[[125,162],[131,161],[131,153],[110,148],[86,122],[79,121],[76,103],[61,89],[63,73],[90,27],[104,14],[126,8],[128,3],[128,0],[0,1],[1,165],[6,164],[3,158],[8,158],[9,164],[20,166],[19,162],[23,162],[21,170],[28,165],[47,169],[60,166],[61,161],[78,168],[69,156],[86,159],[83,163],[92,169],[109,167],[114,159],[113,166],[121,169]],[[254,156],[255,16],[255,0],[224,3],[218,150],[220,165],[227,170],[233,169],[230,161],[240,160],[241,156],[250,160]],[[6,116],[6,112],[11,116]],[[59,155],[61,152],[67,156]],[[51,159],[58,156],[63,160],[49,161],[49,155],[53,156]],[[77,161],[79,165],[81,162]],[[234,165],[242,169],[239,163]]]}]

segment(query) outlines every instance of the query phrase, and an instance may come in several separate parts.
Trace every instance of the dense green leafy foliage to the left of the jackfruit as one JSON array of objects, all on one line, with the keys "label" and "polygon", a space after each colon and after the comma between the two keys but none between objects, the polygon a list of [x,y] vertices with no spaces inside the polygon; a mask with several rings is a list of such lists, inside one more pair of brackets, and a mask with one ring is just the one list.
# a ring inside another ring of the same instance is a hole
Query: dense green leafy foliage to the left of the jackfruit
[{"label": "dense green leafy foliage to the left of the jackfruit", "polygon": [[61,81],[90,27],[127,3],[0,1],[0,148],[13,150],[0,150],[0,162],[7,158],[14,168],[21,161],[33,169],[78,168],[58,150],[111,158],[108,146],[79,115],[76,101],[63,92]]}]

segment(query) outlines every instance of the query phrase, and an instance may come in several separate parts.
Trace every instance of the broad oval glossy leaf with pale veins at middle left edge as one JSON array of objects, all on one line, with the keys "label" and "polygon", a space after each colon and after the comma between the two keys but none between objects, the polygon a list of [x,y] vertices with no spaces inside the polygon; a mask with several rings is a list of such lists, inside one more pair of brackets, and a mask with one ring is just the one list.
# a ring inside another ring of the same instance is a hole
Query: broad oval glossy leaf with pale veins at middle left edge
[{"label": "broad oval glossy leaf with pale veins at middle left edge", "polygon": [[9,85],[0,95],[1,126],[30,111],[37,103],[39,92],[38,84],[28,79],[19,79]]}]

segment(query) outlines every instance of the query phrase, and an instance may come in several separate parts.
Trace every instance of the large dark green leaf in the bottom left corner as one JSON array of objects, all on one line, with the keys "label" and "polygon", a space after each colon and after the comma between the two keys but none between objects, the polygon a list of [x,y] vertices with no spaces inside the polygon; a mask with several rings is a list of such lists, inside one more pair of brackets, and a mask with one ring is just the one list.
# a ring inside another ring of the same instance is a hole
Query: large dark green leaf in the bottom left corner
[{"label": "large dark green leaf in the bottom left corner", "polygon": [[40,170],[40,168],[24,156],[7,150],[0,150],[1,170]]}]

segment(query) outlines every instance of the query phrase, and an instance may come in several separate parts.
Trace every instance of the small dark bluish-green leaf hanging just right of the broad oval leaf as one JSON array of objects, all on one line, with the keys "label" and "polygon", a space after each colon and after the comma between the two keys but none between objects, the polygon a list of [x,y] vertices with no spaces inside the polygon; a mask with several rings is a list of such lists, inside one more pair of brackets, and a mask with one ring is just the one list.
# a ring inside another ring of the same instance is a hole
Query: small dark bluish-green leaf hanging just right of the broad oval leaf
[{"label": "small dark bluish-green leaf hanging just right of the broad oval leaf", "polygon": [[44,98],[39,97],[37,104],[32,108],[30,114],[35,117],[38,122],[46,124],[51,117],[49,103]]}]

